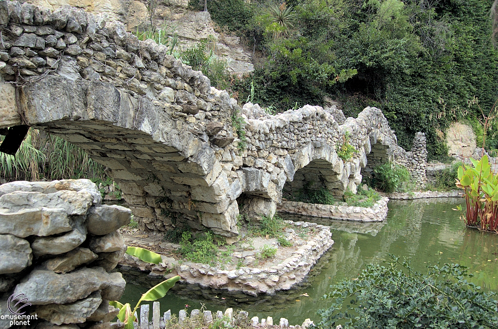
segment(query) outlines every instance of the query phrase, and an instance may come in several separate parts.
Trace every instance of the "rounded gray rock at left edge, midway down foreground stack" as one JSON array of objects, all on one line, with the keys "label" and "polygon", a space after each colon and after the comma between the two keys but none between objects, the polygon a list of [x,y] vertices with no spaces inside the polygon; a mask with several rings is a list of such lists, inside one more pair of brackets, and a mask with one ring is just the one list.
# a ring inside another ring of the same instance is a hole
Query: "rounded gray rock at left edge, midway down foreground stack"
[{"label": "rounded gray rock at left edge, midway down foreground stack", "polygon": [[0,274],[17,273],[31,265],[29,243],[10,234],[0,234]]}]

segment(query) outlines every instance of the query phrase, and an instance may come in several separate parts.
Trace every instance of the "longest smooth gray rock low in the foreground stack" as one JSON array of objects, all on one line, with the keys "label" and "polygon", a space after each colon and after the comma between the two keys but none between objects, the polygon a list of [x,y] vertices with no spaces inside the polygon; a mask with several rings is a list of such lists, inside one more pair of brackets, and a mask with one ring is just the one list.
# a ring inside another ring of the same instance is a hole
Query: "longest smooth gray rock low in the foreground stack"
[{"label": "longest smooth gray rock low in the foreground stack", "polygon": [[24,293],[33,305],[72,303],[97,290],[102,290],[102,299],[119,300],[125,284],[121,273],[107,273],[102,267],[83,267],[66,274],[34,269],[14,293]]}]

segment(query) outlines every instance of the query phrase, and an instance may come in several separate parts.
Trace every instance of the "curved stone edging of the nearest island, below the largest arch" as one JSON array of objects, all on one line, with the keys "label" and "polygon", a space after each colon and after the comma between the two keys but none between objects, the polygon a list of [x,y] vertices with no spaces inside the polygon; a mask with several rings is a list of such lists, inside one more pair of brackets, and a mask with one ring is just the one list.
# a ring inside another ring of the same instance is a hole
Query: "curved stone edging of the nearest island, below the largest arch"
[{"label": "curved stone edging of the nearest island, below the largest arch", "polygon": [[[182,281],[200,284],[204,287],[241,291],[257,296],[259,293],[273,294],[278,290],[288,290],[293,285],[303,281],[311,267],[320,256],[327,251],[334,241],[330,227],[315,223],[295,223],[285,221],[289,225],[314,227],[320,230],[306,245],[292,252],[292,256],[277,265],[264,268],[241,267],[234,270],[223,270],[208,264],[186,261],[183,263],[160,263],[155,266],[144,266],[144,263],[134,256],[125,254],[122,265],[151,270],[154,274],[169,272],[169,276],[180,275]],[[172,268],[172,265],[174,266]]]}]

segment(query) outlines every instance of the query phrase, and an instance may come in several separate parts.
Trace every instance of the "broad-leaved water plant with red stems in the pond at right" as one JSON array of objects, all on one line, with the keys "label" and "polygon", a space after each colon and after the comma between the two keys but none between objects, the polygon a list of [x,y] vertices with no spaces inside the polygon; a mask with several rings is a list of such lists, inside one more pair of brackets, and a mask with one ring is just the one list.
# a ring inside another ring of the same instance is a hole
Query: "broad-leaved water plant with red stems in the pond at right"
[{"label": "broad-leaved water plant with red stems in the pond at right", "polygon": [[498,173],[491,170],[487,155],[480,161],[471,158],[471,162],[473,166],[458,168],[456,181],[457,187],[465,191],[465,223],[498,232]]}]

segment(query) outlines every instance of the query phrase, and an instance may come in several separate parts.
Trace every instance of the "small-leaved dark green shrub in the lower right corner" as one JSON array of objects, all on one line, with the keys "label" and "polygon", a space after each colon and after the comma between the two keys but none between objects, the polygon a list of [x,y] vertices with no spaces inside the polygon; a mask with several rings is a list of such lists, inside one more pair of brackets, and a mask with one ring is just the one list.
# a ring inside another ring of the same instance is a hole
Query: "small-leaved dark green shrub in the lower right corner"
[{"label": "small-leaved dark green shrub in the lower right corner", "polygon": [[465,266],[438,262],[421,274],[409,260],[392,258],[331,286],[325,296],[333,300],[330,308],[318,311],[320,328],[335,328],[338,321],[348,329],[498,327],[496,293],[469,282],[473,274]]}]

